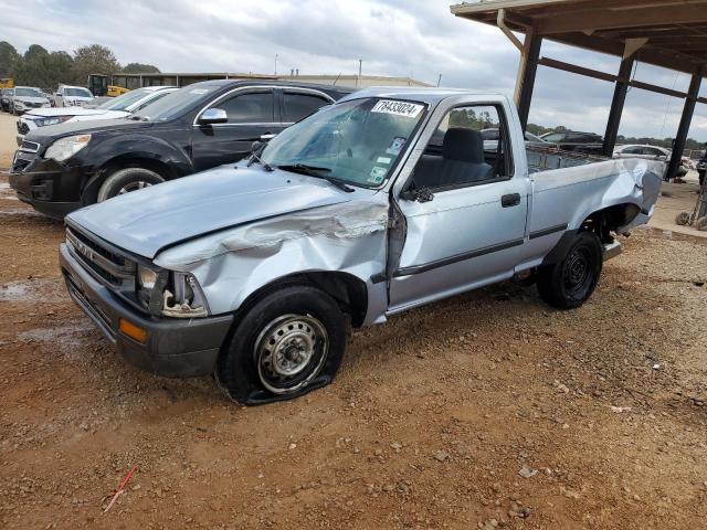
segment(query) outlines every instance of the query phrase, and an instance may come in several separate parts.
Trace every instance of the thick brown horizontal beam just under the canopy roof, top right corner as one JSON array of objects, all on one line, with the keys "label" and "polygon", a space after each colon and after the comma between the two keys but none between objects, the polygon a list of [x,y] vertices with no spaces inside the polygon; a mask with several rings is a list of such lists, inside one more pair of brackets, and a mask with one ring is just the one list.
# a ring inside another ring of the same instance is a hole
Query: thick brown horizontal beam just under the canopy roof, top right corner
[{"label": "thick brown horizontal beam just under the canopy roof, top right corner", "polygon": [[635,29],[665,24],[707,23],[707,2],[690,4],[674,4],[669,7],[602,8],[597,7],[582,17],[570,17],[561,8],[557,8],[552,18],[538,22],[541,35],[568,33],[573,31],[587,32],[597,30]]}]

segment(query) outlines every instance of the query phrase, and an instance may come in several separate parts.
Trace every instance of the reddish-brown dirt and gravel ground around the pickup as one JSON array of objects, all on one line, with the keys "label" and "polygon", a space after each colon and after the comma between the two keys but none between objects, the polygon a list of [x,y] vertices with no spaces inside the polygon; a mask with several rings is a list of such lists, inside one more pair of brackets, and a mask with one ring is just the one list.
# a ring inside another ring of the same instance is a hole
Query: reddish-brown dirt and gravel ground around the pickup
[{"label": "reddish-brown dirt and gravel ground around the pickup", "polygon": [[504,284],[394,317],[245,409],[126,364],[62,239],[0,176],[2,529],[705,528],[705,241],[636,231],[574,311]]}]

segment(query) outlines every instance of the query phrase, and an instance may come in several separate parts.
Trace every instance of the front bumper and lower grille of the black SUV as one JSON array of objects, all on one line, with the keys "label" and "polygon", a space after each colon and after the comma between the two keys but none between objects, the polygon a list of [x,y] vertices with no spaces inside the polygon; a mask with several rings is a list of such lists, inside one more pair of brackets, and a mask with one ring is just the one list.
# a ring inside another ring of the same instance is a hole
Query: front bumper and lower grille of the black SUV
[{"label": "front bumper and lower grille of the black SUV", "polygon": [[18,199],[59,220],[84,206],[78,191],[84,179],[81,167],[70,167],[23,151],[15,152],[10,169],[10,188]]}]

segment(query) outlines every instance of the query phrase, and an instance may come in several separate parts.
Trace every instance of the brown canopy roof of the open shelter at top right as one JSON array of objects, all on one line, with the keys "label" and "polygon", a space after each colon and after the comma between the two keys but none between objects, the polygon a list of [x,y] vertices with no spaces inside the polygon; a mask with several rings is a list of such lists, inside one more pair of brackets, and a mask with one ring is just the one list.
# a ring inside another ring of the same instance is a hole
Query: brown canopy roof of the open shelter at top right
[{"label": "brown canopy roof of the open shelter at top right", "polygon": [[707,0],[482,0],[456,17],[694,74],[707,65]]}]

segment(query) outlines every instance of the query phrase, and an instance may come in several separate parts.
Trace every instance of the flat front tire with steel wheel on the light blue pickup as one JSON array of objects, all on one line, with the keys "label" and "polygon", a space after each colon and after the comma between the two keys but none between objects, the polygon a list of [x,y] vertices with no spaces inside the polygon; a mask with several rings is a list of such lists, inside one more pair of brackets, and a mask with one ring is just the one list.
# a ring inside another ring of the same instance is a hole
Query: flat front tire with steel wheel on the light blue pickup
[{"label": "flat front tire with steel wheel on the light blue pickup", "polygon": [[346,350],[347,319],[328,294],[291,285],[257,300],[230,337],[215,380],[231,400],[254,405],[329,384]]}]

